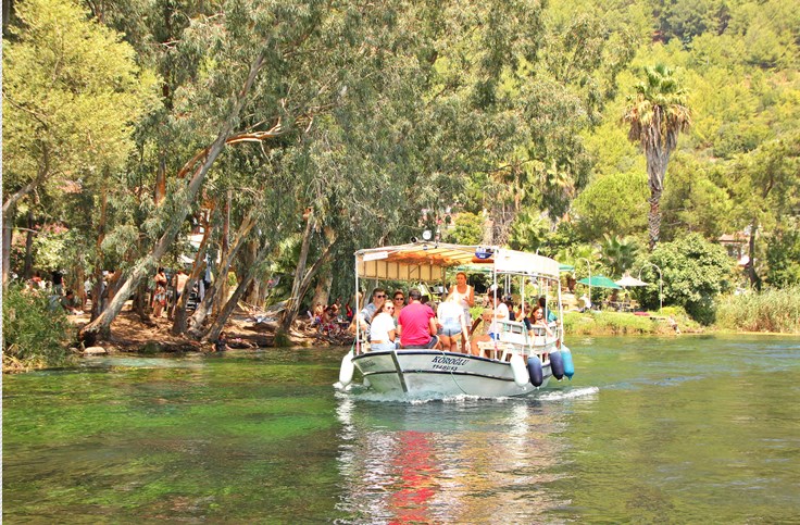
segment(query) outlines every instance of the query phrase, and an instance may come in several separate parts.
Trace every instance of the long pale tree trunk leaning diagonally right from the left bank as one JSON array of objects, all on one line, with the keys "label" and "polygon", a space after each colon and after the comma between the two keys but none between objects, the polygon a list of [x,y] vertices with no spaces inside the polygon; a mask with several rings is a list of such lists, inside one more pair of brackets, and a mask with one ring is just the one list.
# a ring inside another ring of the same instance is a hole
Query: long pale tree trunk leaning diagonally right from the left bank
[{"label": "long pale tree trunk leaning diagonally right from the left bank", "polygon": [[216,161],[216,158],[225,148],[225,141],[233,130],[234,123],[239,117],[241,108],[245,104],[245,99],[250,91],[253,82],[255,80],[257,74],[264,64],[264,51],[260,52],[251,64],[247,80],[237,95],[236,101],[230,112],[228,113],[228,116],[220,125],[220,132],[216,136],[216,139],[208,149],[208,152],[203,155],[203,158],[201,158],[202,163],[199,167],[196,168],[195,174],[189,180],[189,184],[187,185],[184,193],[179,196],[182,197],[183,202],[179,203],[177,209],[184,211],[182,213],[175,213],[171,216],[170,221],[166,224],[166,227],[164,228],[164,234],[155,243],[153,250],[149,254],[141,258],[134,265],[128,278],[125,280],[125,283],[123,283],[121,287],[121,293],[117,293],[117,296],[114,298],[114,301],[111,302],[107,311],[104,311],[98,316],[98,318],[87,324],[80,330],[82,337],[85,337],[87,334],[98,334],[102,328],[108,328],[111,325],[112,321],[114,321],[114,317],[118,315],[120,311],[122,311],[122,308],[125,304],[124,300],[122,299],[130,293],[130,290],[136,288],[136,286],[138,286],[139,282],[141,282],[142,278],[150,275],[153,268],[155,268],[155,266],[158,265],[161,258],[164,255],[164,253],[166,253],[170,246],[172,246],[172,243],[175,241],[175,238],[180,232],[180,226],[183,225],[186,216],[191,210],[191,202],[195,201],[196,196],[200,191],[200,188],[205,180],[205,175],[209,173],[209,170],[211,170],[211,166]]}]

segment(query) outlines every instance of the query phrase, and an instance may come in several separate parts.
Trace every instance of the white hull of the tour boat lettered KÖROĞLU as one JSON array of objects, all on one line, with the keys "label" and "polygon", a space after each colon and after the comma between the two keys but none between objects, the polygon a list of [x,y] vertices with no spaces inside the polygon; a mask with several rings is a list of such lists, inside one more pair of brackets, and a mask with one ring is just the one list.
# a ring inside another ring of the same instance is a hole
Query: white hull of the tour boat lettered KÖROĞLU
[{"label": "white hull of the tour boat lettered K\u00d6RO\u011eLU", "polygon": [[508,362],[438,350],[373,351],[355,355],[352,363],[370,389],[411,396],[527,396],[547,386],[552,375],[548,361],[540,387],[520,386]]}]

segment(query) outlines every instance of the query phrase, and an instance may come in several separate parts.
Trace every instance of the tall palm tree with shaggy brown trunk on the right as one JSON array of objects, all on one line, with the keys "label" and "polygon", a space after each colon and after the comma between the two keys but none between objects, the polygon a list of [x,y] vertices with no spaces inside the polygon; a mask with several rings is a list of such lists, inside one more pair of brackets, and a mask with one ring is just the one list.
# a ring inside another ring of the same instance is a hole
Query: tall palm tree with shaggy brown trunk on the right
[{"label": "tall palm tree with shaggy brown trunk on the right", "polygon": [[655,248],[661,230],[659,202],[664,191],[664,177],[670,154],[678,141],[678,134],[691,125],[691,112],[686,105],[686,90],[682,88],[670,67],[659,64],[645,67],[645,82],[636,85],[636,93],[628,97],[623,121],[630,124],[628,139],[639,142],[647,158],[650,179],[650,251]]}]

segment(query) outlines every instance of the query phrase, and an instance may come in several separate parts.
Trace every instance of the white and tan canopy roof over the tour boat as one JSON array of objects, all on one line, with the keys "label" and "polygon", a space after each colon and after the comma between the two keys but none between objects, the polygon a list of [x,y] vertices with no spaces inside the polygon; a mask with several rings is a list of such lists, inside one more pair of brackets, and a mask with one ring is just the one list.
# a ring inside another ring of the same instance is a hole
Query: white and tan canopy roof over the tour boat
[{"label": "white and tan canopy roof over the tour boat", "polygon": [[355,252],[355,267],[360,278],[442,282],[445,271],[454,266],[559,277],[559,263],[550,258],[497,247],[414,242]]}]

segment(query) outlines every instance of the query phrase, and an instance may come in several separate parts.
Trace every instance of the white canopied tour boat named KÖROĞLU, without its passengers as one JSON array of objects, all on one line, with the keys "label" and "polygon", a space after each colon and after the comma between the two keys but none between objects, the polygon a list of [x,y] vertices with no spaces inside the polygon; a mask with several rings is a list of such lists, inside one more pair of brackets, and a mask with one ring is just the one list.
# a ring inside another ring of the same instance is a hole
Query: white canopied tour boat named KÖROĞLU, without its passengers
[{"label": "white canopied tour boat named K\u00d6RO\u011eLU, without its passengers", "polygon": [[[572,355],[564,345],[561,323],[559,263],[550,258],[499,247],[433,241],[365,249],[355,252],[355,288],[360,279],[442,284],[446,270],[453,267],[490,271],[495,285],[498,278],[507,285],[518,279],[523,302],[526,280],[543,287],[546,295],[558,299],[558,321],[549,327],[552,335],[543,326],[529,333],[522,322],[495,320],[500,327],[499,340],[480,342],[480,355],[472,355],[423,349],[371,351],[357,333],[353,350],[342,359],[337,388],[348,388],[357,370],[373,391],[428,398],[526,396],[553,377],[572,378]],[[357,303],[355,312],[360,308]],[[359,323],[355,325],[358,329]]]}]

